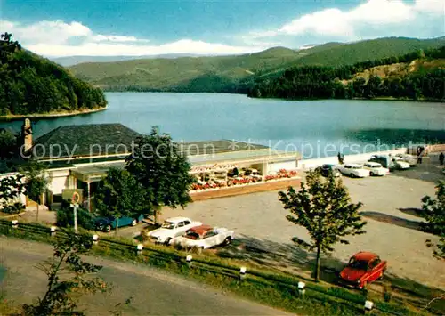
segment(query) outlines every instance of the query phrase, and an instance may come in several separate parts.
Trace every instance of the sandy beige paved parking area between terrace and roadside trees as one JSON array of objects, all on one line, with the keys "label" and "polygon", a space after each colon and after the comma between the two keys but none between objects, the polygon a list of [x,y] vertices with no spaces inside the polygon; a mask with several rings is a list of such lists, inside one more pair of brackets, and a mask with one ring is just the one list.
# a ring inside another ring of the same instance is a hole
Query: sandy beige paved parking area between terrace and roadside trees
[{"label": "sandy beige paved parking area between terrace and roadside trees", "polygon": [[[423,165],[385,177],[350,179],[344,184],[352,201],[362,202],[368,221],[367,233],[349,238],[350,245],[336,245],[333,256],[346,262],[360,250],[376,252],[389,263],[389,272],[425,285],[445,288],[445,265],[433,258],[425,239],[433,235],[418,231],[419,217],[412,208],[421,207],[425,195],[434,195],[435,182],[445,179],[440,168]],[[261,239],[269,247],[292,244],[292,237],[307,239],[303,227],[287,222],[287,211],[278,191],[212,199],[190,204],[184,210],[166,208],[163,217],[190,216],[194,220],[224,226],[237,233]],[[271,249],[273,250],[273,249]]]}]

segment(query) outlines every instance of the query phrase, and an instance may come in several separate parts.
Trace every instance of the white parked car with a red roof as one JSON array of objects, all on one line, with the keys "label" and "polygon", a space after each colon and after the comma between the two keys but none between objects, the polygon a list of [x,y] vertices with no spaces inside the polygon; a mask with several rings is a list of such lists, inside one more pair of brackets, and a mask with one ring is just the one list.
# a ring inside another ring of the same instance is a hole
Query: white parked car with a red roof
[{"label": "white parked car with a red roof", "polygon": [[219,245],[229,245],[233,240],[233,235],[234,231],[227,228],[201,225],[191,228],[184,236],[173,239],[172,245],[178,245],[184,249],[197,247],[203,250]]}]

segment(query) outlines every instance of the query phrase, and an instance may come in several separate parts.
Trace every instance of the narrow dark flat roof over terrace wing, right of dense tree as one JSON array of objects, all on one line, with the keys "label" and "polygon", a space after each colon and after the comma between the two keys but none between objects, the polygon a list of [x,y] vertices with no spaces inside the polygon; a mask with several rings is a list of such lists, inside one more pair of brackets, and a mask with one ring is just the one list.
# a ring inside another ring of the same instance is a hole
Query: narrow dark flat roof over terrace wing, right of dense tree
[{"label": "narrow dark flat roof over terrace wing, right of dense tree", "polygon": [[250,142],[239,142],[230,140],[182,142],[180,148],[187,155],[219,154],[229,151],[264,150],[268,146]]}]

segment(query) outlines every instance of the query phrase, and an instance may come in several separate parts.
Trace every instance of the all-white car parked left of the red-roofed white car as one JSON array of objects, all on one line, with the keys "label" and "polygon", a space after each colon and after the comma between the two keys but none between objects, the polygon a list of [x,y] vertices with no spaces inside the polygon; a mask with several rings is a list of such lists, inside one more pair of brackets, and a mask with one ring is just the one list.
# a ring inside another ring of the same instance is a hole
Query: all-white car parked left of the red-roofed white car
[{"label": "all-white car parked left of the red-roofed white car", "polygon": [[190,228],[201,225],[201,222],[193,222],[187,217],[171,217],[157,230],[147,232],[147,237],[156,243],[169,245],[172,239],[182,236]]}]

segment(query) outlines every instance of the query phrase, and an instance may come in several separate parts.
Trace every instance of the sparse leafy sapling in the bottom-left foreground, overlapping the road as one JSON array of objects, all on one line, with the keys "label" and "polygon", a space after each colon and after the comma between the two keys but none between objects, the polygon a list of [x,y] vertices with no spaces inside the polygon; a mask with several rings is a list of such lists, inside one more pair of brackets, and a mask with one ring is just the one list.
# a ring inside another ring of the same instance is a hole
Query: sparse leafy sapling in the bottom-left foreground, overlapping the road
[{"label": "sparse leafy sapling in the bottom-left foreground, overlapping the road", "polygon": [[77,311],[79,295],[109,290],[105,281],[93,277],[102,267],[86,263],[82,258],[89,254],[92,246],[93,240],[88,235],[70,234],[68,238],[57,239],[53,260],[37,266],[48,277],[46,293],[36,304],[23,305],[25,315],[84,315]]}]

